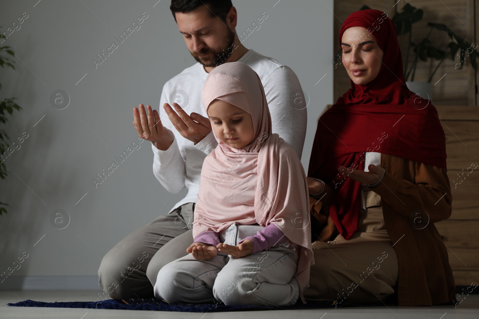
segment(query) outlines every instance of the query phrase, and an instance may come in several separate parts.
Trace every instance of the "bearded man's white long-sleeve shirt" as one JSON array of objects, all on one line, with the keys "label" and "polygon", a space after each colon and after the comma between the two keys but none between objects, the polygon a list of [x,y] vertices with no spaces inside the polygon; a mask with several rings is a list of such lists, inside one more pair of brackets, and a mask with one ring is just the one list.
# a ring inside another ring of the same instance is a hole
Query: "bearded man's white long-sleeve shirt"
[{"label": "bearded man's white long-sleeve shirt", "polygon": [[[271,113],[272,131],[291,145],[301,159],[307,111],[296,74],[288,66],[253,50],[249,50],[238,61],[250,66],[260,77]],[[166,82],[161,92],[161,123],[173,132],[174,140],[166,151],[151,145],[154,153],[153,173],[161,185],[173,194],[179,193],[184,187],[188,189],[186,196],[170,212],[182,204],[197,201],[203,161],[217,147],[217,142],[213,132],[196,145],[182,137],[168,119],[163,104],[172,105],[176,102],[188,114],[196,112],[207,117],[201,102],[201,90],[207,76],[203,65],[196,63]]]}]

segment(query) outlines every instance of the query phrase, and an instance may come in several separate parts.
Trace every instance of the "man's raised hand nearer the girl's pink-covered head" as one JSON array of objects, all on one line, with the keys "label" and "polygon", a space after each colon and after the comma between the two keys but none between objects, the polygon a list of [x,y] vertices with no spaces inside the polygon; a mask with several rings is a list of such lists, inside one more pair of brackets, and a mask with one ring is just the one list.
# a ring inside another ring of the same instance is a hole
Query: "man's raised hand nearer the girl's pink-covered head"
[{"label": "man's raised hand nearer the girl's pink-covered head", "polygon": [[184,138],[196,145],[211,132],[211,122],[208,118],[194,112],[190,116],[177,103],[173,103],[173,107],[174,110],[170,104],[163,104],[171,123]]}]

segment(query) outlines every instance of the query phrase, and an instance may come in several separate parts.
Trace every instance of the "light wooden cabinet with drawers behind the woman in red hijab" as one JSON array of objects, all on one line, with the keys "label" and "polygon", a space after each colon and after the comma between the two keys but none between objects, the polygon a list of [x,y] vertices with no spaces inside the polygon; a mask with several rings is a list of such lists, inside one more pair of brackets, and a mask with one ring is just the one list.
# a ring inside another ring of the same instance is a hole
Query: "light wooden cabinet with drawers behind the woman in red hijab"
[{"label": "light wooden cabinet with drawers behind the woman in red hijab", "polygon": [[[452,214],[435,223],[446,245],[457,286],[479,278],[479,108],[436,106],[446,136]],[[469,171],[470,173],[467,173]],[[466,172],[466,173],[465,173]]]}]

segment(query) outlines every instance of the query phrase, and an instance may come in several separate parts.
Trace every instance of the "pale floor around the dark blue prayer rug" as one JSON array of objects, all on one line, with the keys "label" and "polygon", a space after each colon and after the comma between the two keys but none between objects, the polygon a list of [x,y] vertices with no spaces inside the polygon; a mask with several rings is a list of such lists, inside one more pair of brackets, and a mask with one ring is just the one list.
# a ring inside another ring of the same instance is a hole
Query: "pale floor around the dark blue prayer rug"
[{"label": "pale floor around the dark blue prayer rug", "polygon": [[35,301],[93,301],[97,297],[94,290],[27,290],[0,291],[0,318],[36,318],[36,319],[91,319],[91,318],[151,318],[151,319],[478,319],[479,295],[467,296],[457,307],[360,307],[360,308],[330,308],[280,311],[240,311],[240,312],[162,312],[148,310],[109,310],[109,309],[79,309],[79,308],[26,308],[9,307],[7,302],[18,302],[31,299]]}]

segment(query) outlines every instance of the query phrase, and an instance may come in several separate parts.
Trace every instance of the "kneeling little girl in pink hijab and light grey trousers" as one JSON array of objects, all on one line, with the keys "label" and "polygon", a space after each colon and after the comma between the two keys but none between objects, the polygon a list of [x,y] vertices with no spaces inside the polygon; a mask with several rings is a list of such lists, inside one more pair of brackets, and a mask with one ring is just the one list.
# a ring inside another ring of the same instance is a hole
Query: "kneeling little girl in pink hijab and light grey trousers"
[{"label": "kneeling little girl in pink hijab and light grey trousers", "polygon": [[167,302],[306,303],[314,264],[308,184],[296,152],[272,134],[258,75],[230,62],[208,75],[201,99],[218,146],[206,156],[188,255],[158,273]]}]

